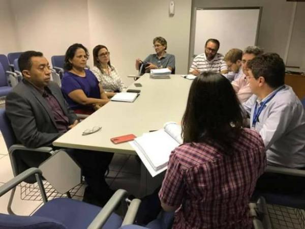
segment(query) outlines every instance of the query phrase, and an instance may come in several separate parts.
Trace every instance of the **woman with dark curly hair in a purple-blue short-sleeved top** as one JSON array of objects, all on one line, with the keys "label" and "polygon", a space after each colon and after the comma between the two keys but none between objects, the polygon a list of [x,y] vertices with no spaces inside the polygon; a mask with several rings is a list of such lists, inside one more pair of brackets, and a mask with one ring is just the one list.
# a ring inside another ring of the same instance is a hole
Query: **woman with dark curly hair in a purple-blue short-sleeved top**
[{"label": "woman with dark curly hair in a purple-blue short-sleeved top", "polygon": [[82,44],[71,45],[65,56],[62,91],[75,113],[90,115],[109,102],[92,71],[86,69],[88,50]]}]

